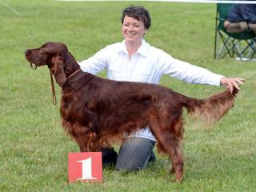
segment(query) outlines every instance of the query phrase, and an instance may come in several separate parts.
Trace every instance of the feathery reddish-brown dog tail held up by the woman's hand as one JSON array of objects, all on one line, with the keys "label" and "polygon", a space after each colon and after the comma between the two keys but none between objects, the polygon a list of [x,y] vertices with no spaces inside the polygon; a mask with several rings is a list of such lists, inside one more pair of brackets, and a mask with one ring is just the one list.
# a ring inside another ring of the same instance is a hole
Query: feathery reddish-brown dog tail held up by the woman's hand
[{"label": "feathery reddish-brown dog tail held up by the woman's hand", "polygon": [[202,119],[207,125],[214,124],[234,106],[236,94],[238,89],[234,87],[232,94],[226,89],[205,99],[187,98],[182,105],[193,117]]}]

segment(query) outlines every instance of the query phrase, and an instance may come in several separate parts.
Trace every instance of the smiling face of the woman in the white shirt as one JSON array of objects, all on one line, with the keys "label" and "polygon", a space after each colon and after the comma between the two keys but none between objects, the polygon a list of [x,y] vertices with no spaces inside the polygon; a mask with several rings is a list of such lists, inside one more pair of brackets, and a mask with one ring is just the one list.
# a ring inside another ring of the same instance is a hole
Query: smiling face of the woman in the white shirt
[{"label": "smiling face of the woman in the white shirt", "polygon": [[142,42],[146,33],[144,23],[135,18],[125,16],[122,23],[122,36],[126,42]]}]

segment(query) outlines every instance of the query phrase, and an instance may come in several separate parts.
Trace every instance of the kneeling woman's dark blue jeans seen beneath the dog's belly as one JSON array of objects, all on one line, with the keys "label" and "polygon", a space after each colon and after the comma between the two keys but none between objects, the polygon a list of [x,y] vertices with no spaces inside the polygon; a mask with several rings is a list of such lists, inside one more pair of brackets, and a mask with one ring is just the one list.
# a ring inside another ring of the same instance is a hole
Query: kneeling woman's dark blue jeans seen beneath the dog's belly
[{"label": "kneeling woman's dark blue jeans seen beneath the dog's belly", "polygon": [[147,162],[154,161],[152,152],[155,142],[148,138],[126,138],[118,154],[113,148],[102,150],[103,166],[114,164],[116,170],[141,170]]}]

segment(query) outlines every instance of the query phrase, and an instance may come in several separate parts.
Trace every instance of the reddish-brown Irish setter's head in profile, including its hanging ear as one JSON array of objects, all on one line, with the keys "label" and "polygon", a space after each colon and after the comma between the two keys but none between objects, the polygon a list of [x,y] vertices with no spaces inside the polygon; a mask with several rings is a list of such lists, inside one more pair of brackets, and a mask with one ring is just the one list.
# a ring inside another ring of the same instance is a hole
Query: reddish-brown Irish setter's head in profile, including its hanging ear
[{"label": "reddish-brown Irish setter's head in profile, including its hanging ear", "polygon": [[26,60],[30,65],[48,66],[59,86],[66,82],[64,67],[68,55],[66,45],[60,42],[46,42],[39,48],[25,50]]}]

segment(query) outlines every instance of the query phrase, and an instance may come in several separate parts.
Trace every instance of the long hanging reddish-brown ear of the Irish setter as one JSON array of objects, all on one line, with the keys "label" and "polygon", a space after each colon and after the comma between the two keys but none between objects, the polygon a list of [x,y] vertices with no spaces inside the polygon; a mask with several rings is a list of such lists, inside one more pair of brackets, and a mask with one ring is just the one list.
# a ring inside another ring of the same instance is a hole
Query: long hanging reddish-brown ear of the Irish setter
[{"label": "long hanging reddish-brown ear of the Irish setter", "polygon": [[62,86],[66,83],[66,74],[64,71],[64,58],[59,55],[51,58],[51,63],[53,64],[50,67],[50,72],[54,74],[54,78],[59,86]]}]

